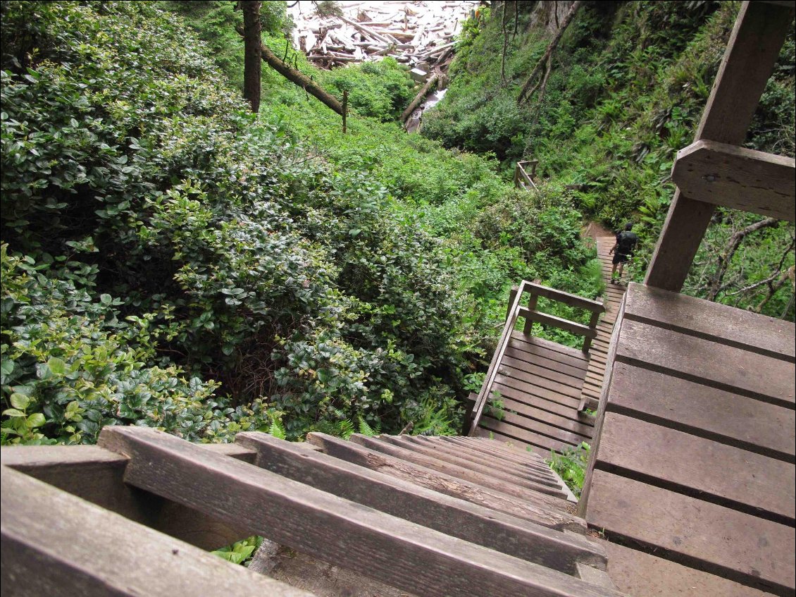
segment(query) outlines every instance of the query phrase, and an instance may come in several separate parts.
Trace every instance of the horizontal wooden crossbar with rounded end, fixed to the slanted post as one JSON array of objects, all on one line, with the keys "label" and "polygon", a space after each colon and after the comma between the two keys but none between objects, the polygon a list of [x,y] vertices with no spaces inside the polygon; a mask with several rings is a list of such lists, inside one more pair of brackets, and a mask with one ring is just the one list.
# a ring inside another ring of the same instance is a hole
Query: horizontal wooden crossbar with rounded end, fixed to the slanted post
[{"label": "horizontal wooden crossbar with rounded end, fixed to the slanted post", "polygon": [[794,164],[794,158],[703,140],[677,152],[672,181],[697,201],[793,221]]}]

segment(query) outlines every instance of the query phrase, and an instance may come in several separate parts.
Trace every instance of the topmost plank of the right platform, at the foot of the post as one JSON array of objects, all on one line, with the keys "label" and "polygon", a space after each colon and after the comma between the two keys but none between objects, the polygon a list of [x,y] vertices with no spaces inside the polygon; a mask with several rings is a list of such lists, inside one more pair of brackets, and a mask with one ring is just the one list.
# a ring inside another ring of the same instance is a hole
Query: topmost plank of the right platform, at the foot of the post
[{"label": "topmost plank of the right platform, at the foot of the post", "polygon": [[768,357],[796,360],[793,322],[718,302],[630,284],[625,317]]}]

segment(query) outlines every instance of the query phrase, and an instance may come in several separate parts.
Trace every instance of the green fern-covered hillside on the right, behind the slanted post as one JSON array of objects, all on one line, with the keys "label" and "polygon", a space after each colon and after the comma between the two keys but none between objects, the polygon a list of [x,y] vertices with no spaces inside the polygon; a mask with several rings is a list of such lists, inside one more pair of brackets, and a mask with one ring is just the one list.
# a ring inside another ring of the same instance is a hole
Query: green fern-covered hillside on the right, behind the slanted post
[{"label": "green fern-covered hillside on the right, behind the slanted post", "polygon": [[[693,139],[740,3],[584,2],[546,85],[522,104],[520,87],[551,37],[544,25],[555,29],[552,2],[496,4],[470,23],[423,135],[492,152],[506,169],[537,158],[586,217],[614,229],[641,224],[640,279],[673,197],[674,154]],[[794,64],[791,24],[747,146],[794,156]],[[793,321],[794,287],[783,276],[794,265],[794,224],[747,230],[759,220],[717,210],[685,290]]]}]

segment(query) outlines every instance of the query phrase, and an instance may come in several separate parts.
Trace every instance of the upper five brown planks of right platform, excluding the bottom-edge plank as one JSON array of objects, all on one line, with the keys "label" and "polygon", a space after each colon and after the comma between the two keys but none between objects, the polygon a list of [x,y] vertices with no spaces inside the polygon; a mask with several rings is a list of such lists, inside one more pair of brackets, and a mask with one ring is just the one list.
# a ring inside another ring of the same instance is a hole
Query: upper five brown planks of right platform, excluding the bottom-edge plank
[{"label": "upper five brown planks of right platform, excluding the bottom-edge plank", "polygon": [[628,288],[580,511],[609,537],[794,595],[794,324]]}]

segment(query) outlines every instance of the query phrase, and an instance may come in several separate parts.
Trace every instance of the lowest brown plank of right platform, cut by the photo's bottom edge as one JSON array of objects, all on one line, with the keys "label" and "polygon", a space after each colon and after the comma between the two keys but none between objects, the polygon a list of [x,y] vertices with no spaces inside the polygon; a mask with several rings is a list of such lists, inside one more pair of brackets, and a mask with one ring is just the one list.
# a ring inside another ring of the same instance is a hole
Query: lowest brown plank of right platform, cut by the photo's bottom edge
[{"label": "lowest brown plank of right platform, cut by the photo's bottom edge", "polygon": [[721,576],[687,568],[652,554],[597,540],[611,563],[610,576],[619,591],[634,597],[771,597]]}]

